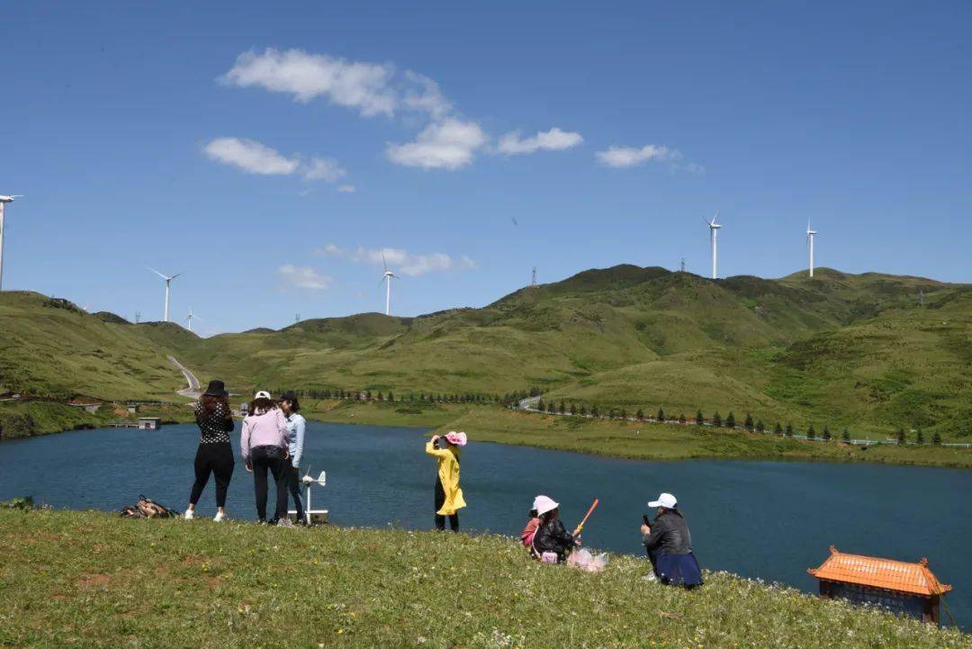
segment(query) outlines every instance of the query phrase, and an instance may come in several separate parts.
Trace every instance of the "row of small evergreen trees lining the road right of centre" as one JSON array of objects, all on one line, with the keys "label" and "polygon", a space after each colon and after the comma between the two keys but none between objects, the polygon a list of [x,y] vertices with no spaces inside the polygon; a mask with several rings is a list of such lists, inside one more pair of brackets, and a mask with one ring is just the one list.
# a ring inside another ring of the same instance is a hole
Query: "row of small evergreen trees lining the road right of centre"
[{"label": "row of small evergreen trees lining the road right of centre", "polygon": [[[595,418],[620,419],[620,420],[629,419],[628,411],[625,408],[602,409],[599,408],[597,404],[594,404],[591,406],[590,411],[588,411],[587,406],[584,405],[583,403],[581,403],[579,407],[573,402],[570,405],[568,405],[564,399],[561,399],[560,403],[556,403],[553,400],[544,402],[543,399],[540,398],[537,402],[537,410],[539,412],[546,412],[551,415],[570,414],[574,416],[587,417],[587,415],[590,414],[591,417],[595,417]],[[677,422],[678,424],[682,424],[682,425],[686,424],[688,421],[684,413],[679,413],[677,417],[667,416],[665,414],[664,408],[658,409],[658,413],[655,415],[653,420],[650,418],[646,418],[644,416],[644,411],[641,408],[639,408],[638,411],[635,413],[635,419],[638,420],[639,422],[655,421],[655,422],[663,422],[663,423],[667,422],[673,424]],[[705,426],[705,424],[706,424],[706,419],[705,416],[702,414],[702,410],[696,411],[695,425]],[[761,419],[753,420],[752,415],[750,415],[749,413],[746,413],[746,419],[743,421],[743,424],[740,426],[737,424],[736,415],[734,415],[732,411],[730,411],[729,414],[726,415],[725,419],[722,418],[722,415],[720,415],[718,411],[715,411],[715,414],[712,415],[712,419],[710,420],[710,424],[713,428],[730,428],[730,429],[740,429],[740,430],[745,429],[748,430],[749,432],[766,432],[766,425],[763,424],[763,420]],[[792,437],[796,434],[792,424],[787,424],[786,427],[782,427],[780,422],[777,422],[776,426],[773,427],[773,433],[785,437]],[[807,439],[816,439],[817,433],[816,433],[816,428],[814,427],[813,424],[811,424],[810,427],[807,428],[806,436]],[[820,439],[822,439],[823,441],[830,441],[832,438],[833,438],[833,434],[830,432],[830,427],[824,426],[823,430],[820,433]],[[851,432],[847,428],[844,428],[844,431],[841,433],[841,439],[845,442],[851,441]],[[904,428],[900,428],[898,430],[896,441],[899,445],[902,446],[908,443],[907,435],[905,434]],[[916,432],[915,443],[916,444],[925,443],[924,434],[921,432],[920,429]],[[942,443],[942,436],[938,433],[937,430],[931,437],[931,443],[936,445]]]}]

